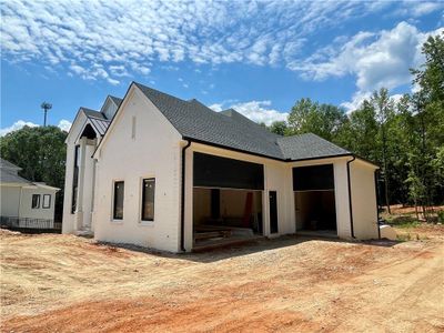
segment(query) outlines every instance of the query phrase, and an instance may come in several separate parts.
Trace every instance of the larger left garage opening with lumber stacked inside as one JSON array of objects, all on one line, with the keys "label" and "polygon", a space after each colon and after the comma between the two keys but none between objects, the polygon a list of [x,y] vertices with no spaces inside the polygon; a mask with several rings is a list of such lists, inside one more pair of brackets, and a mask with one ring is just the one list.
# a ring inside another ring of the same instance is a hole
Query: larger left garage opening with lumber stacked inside
[{"label": "larger left garage opening with lumber stacked inside", "polygon": [[194,153],[193,248],[263,234],[263,165]]}]

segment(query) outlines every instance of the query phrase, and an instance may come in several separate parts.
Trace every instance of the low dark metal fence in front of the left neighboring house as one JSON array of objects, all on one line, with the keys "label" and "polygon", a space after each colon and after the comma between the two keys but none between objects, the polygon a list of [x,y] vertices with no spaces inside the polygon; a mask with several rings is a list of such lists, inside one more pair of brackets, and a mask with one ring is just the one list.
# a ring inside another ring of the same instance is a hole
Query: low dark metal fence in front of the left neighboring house
[{"label": "low dark metal fence in front of the left neighboring house", "polygon": [[27,230],[31,232],[60,232],[62,223],[52,219],[31,219],[17,216],[0,216],[1,228],[11,230]]}]

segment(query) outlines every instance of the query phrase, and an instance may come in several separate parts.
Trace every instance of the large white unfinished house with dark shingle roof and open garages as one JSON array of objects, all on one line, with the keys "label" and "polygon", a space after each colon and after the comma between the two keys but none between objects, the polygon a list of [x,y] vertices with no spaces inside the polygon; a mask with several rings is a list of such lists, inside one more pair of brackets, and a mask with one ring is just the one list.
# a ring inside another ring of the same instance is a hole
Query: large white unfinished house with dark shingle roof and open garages
[{"label": "large white unfinished house with dark shingle roof and open garages", "polygon": [[67,138],[63,233],[172,252],[306,231],[379,238],[377,167],[314,134],[131,83]]}]

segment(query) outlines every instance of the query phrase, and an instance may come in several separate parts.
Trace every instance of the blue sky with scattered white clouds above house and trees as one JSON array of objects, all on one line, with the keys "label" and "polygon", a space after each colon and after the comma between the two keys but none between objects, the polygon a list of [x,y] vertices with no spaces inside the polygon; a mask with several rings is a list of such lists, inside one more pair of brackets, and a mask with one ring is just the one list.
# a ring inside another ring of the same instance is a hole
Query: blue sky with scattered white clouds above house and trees
[{"label": "blue sky with scattered white clouds above house and trees", "polygon": [[301,98],[350,112],[385,87],[411,92],[444,1],[14,1],[1,8],[0,135],[69,130],[137,81],[258,122]]}]

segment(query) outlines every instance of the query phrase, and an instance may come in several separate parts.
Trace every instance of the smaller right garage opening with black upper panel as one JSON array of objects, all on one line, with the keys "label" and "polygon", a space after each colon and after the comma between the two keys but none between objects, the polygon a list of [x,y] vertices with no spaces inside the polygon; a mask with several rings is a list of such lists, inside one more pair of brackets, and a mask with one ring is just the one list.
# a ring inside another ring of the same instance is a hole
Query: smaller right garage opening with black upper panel
[{"label": "smaller right garage opening with black upper panel", "polygon": [[293,168],[296,231],[337,236],[333,164]]}]

